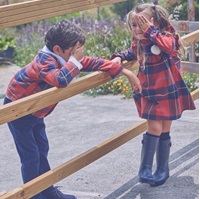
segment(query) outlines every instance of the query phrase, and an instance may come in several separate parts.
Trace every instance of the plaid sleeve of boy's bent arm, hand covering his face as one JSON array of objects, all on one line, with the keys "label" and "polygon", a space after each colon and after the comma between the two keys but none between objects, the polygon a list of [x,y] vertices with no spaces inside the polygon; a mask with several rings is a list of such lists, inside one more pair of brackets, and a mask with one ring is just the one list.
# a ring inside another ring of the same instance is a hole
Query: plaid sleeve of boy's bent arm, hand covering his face
[{"label": "plaid sleeve of boy's bent arm, hand covering his face", "polygon": [[66,87],[80,73],[79,68],[72,61],[66,62],[61,68],[59,68],[60,63],[52,57],[36,63],[39,68],[38,77],[56,87]]}]

